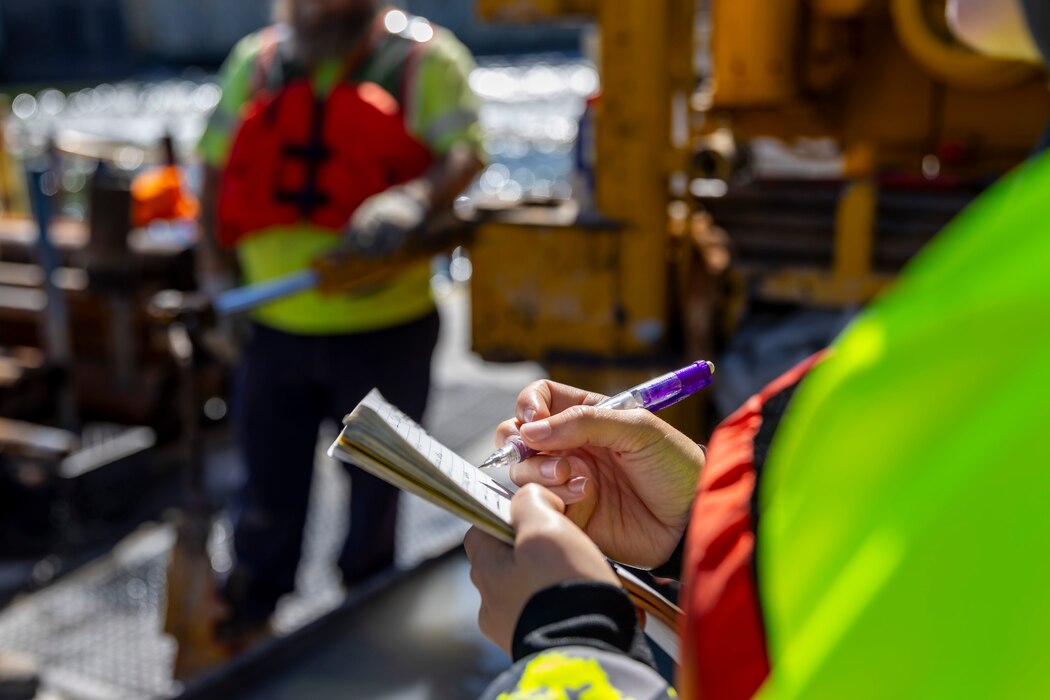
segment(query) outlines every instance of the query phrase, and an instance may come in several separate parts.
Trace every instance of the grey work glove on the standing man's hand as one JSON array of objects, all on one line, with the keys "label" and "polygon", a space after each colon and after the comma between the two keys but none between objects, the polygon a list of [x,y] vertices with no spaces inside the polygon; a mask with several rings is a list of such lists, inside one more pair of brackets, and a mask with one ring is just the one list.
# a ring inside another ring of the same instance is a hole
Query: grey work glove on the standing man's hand
[{"label": "grey work glove on the standing man's hand", "polygon": [[346,227],[350,252],[382,258],[400,251],[426,219],[423,196],[408,187],[392,187],[365,199]]}]

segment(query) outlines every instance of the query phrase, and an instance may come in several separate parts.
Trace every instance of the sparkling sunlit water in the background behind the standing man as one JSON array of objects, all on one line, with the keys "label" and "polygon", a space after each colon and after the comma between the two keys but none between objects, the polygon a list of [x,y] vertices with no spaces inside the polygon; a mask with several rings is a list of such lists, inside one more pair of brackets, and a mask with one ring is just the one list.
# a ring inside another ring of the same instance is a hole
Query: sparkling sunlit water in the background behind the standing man
[{"label": "sparkling sunlit water in the background behind the standing man", "polygon": [[[413,27],[405,18],[403,29],[424,31],[429,25]],[[594,66],[562,56],[483,58],[470,86],[480,98],[489,165],[468,196],[502,204],[569,196],[578,124],[598,86]],[[191,162],[220,98],[214,80],[201,76],[104,83],[69,93],[51,87],[23,92],[10,101],[5,143],[16,155],[39,151],[51,136],[88,153],[94,152],[90,144],[107,144],[105,152],[119,167],[135,170],[155,158],[150,153],[170,133],[184,162]],[[78,174],[63,184],[72,191],[83,187]]]}]

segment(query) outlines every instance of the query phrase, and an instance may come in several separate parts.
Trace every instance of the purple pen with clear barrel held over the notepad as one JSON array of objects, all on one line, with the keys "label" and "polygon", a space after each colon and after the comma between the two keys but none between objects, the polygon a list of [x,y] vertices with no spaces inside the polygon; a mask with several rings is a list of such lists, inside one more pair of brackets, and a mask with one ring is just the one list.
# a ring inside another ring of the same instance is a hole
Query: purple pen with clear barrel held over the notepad
[{"label": "purple pen with clear barrel held over the notepad", "polygon": [[[697,360],[692,364],[660,375],[648,382],[621,391],[608,399],[598,401],[596,408],[648,408],[655,412],[678,403],[686,397],[699,391],[714,381],[715,365],[707,360]],[[526,447],[518,436],[511,436],[503,447],[492,452],[481,463],[480,469],[508,467],[536,454],[536,450]]]}]

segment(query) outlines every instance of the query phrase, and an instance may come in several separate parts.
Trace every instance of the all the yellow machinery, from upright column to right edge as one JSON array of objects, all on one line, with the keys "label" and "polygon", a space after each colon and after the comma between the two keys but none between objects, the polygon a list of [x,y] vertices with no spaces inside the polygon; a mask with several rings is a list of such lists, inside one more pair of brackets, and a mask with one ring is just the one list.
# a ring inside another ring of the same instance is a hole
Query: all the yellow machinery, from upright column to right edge
[{"label": "all the yellow machinery, from upright column to right edge", "polygon": [[[539,361],[555,379],[598,390],[712,351],[727,303],[716,293],[726,249],[698,209],[724,226],[730,250],[747,228],[734,230],[733,211],[772,214],[749,225],[772,263],[732,268],[753,294],[856,304],[891,278],[876,251],[883,218],[925,226],[928,237],[1024,157],[1050,115],[1042,72],[956,43],[943,0],[712,0],[713,75],[704,81],[692,0],[479,0],[478,8],[495,22],[590,17],[600,29],[600,216],[511,210],[481,226],[471,248],[475,349]],[[735,166],[746,161],[734,154],[759,136],[832,140],[841,167],[813,183],[816,197],[804,181],[786,195],[738,187]],[[721,196],[690,194],[690,183],[716,177]],[[737,191],[747,196],[734,199]],[[828,250],[816,262],[788,263],[777,252],[780,242],[808,246],[785,228],[792,217],[777,213],[778,196],[796,219],[817,203],[808,229],[826,229],[827,240],[812,247]],[[734,200],[736,210],[723,206]],[[936,226],[919,216],[930,208],[947,210]]]}]

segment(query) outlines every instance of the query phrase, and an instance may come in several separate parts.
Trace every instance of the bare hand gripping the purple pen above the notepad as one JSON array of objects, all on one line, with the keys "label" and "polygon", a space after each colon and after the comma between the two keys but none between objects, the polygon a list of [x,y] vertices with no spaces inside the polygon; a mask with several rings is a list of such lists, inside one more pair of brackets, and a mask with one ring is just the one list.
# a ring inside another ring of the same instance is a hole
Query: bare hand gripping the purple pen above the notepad
[{"label": "bare hand gripping the purple pen above the notepad", "polygon": [[[689,386],[687,395],[697,390]],[[680,399],[680,393],[667,400],[675,397]],[[510,479],[556,494],[567,506],[565,514],[607,556],[632,566],[658,566],[685,531],[704,452],[651,412],[652,405],[669,403],[650,398],[649,411],[603,410],[593,405],[595,398],[546,380],[522,390],[517,419],[497,430],[499,444],[520,433],[543,454],[511,464]]]}]

